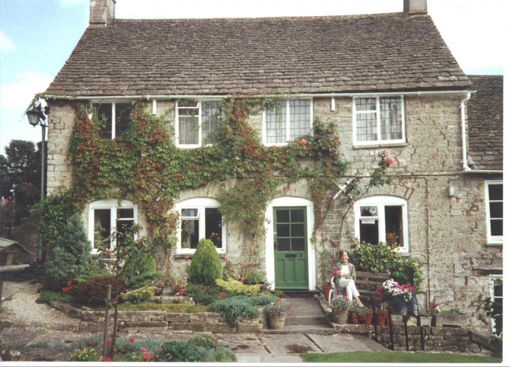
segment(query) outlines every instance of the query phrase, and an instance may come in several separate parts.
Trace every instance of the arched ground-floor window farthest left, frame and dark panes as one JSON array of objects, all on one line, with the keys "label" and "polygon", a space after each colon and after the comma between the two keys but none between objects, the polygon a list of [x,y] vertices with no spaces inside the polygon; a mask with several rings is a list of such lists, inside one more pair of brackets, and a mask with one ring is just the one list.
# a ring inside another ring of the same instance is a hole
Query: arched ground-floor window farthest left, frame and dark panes
[{"label": "arched ground-floor window farthest left, frame and dark panes", "polygon": [[115,246],[113,233],[122,233],[137,222],[137,206],[129,200],[98,200],[89,204],[88,239],[92,252],[98,252],[100,243]]}]

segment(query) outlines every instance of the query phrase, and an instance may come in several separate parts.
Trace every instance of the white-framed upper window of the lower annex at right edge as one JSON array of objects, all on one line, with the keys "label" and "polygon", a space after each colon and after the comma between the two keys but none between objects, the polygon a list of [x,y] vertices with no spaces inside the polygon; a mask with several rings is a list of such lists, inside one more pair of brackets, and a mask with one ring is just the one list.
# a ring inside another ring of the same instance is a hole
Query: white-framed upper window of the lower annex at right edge
[{"label": "white-framed upper window of the lower annex at right edge", "polygon": [[503,181],[485,182],[487,241],[503,243]]}]

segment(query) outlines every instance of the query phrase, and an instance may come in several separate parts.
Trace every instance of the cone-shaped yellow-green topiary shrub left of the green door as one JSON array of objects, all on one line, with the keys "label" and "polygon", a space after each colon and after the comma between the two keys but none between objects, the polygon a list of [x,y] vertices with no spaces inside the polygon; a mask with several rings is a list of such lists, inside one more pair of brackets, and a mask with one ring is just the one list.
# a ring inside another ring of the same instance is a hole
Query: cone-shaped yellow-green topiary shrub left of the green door
[{"label": "cone-shaped yellow-green topiary shrub left of the green door", "polygon": [[205,238],[198,241],[189,276],[191,283],[203,285],[213,285],[214,281],[221,277],[221,259],[213,241]]}]

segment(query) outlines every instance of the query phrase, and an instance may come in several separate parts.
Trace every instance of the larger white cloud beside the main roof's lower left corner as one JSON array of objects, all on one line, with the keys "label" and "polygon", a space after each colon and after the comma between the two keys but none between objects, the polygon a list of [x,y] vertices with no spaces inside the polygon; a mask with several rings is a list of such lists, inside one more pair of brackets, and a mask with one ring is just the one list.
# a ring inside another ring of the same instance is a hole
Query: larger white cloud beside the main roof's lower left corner
[{"label": "larger white cloud beside the main roof's lower left corner", "polygon": [[52,78],[35,72],[18,75],[15,82],[0,87],[0,106],[3,108],[24,109],[36,93],[44,92]]}]

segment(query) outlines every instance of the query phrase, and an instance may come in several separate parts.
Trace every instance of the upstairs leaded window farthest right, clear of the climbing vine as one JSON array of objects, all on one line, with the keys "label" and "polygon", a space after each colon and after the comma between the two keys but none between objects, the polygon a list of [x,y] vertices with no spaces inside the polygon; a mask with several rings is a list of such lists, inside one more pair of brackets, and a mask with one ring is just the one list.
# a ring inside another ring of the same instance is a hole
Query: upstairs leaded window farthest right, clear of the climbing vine
[{"label": "upstairs leaded window farthest right, clear of the climbing vine", "polygon": [[354,145],[404,143],[404,97],[360,97],[353,103]]}]

